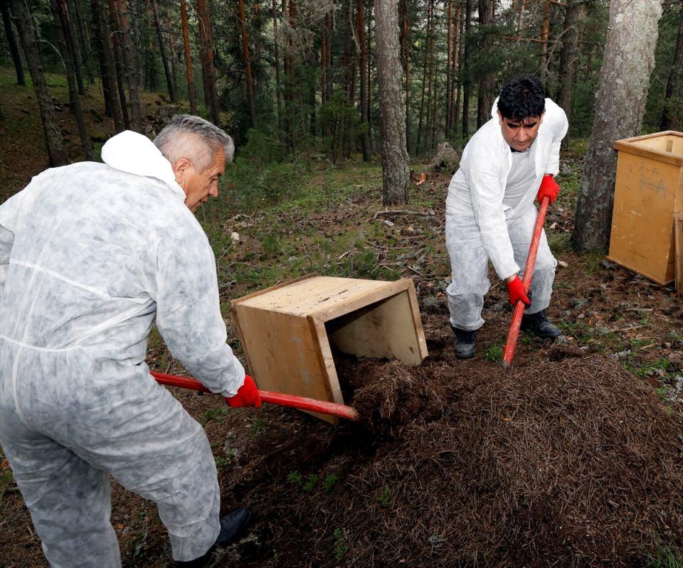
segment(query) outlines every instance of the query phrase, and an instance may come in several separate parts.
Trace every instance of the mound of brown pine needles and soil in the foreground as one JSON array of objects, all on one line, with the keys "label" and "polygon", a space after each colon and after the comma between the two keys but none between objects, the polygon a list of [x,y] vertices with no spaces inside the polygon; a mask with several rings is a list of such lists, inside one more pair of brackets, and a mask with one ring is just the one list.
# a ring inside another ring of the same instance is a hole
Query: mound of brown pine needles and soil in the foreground
[{"label": "mound of brown pine needles and soil in the foreground", "polygon": [[218,565],[637,566],[683,547],[683,427],[615,361],[558,359],[338,364],[361,422],[269,432],[268,471],[233,493],[253,531]]}]

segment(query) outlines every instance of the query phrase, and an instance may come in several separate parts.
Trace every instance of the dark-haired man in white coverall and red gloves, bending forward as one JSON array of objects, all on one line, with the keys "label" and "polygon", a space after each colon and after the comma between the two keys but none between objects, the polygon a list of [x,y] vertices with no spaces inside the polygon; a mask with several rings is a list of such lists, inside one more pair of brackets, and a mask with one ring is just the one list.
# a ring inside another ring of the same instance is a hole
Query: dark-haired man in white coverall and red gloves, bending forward
[{"label": "dark-haired man in white coverall and red gloves, bending forward", "polygon": [[557,265],[545,233],[529,296],[520,267],[526,264],[536,222],[534,198],[540,202],[547,195],[553,203],[559,193],[554,176],[567,128],[566,114],[544,97],[540,82],[521,77],[502,88],[492,119],[465,146],[446,199],[452,275],[448,309],[458,358],[475,354],[476,331],[484,323],[482,307],[490,285],[489,260],[507,284],[510,303],[521,300],[526,306],[521,328],[541,338],[561,335],[545,314]]}]

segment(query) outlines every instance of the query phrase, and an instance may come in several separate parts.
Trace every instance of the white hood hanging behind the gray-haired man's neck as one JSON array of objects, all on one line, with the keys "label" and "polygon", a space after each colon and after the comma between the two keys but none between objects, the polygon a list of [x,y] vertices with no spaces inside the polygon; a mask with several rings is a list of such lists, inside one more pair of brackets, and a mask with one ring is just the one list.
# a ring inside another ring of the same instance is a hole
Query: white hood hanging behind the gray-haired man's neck
[{"label": "white hood hanging behind the gray-haired man's neck", "polygon": [[136,176],[157,178],[185,198],[183,188],[176,182],[171,163],[147,136],[131,130],[112,136],[102,146],[102,161],[107,166]]}]

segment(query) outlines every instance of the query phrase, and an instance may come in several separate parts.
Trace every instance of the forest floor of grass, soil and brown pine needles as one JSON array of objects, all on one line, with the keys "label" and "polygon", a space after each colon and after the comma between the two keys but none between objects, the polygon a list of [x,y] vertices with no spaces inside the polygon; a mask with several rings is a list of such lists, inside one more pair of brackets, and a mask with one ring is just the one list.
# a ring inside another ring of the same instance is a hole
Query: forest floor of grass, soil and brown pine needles
[{"label": "forest floor of grass, soil and brown pine needles", "polygon": [[[35,97],[8,77],[0,75],[1,201],[47,167]],[[76,155],[68,97],[51,85]],[[90,132],[103,141],[112,127],[97,95],[91,101]],[[150,117],[164,105],[145,101]],[[198,218],[240,358],[230,301],[311,272],[413,279],[429,356],[411,367],[337,353],[344,400],[361,414],[338,427],[173,389],[211,441],[223,510],[253,512],[243,540],[214,566],[683,565],[683,304],[672,286],[571,250],[583,151],[578,141],[563,154],[562,192],[545,225],[560,262],[549,317],[564,336],[551,344],[523,334],[507,372],[499,361],[512,311],[494,274],[477,356],[460,361],[452,350],[450,173],[413,164],[427,181],[411,186],[410,205],[392,208],[400,213],[385,213],[377,164],[245,156],[228,167],[221,198]],[[147,363],[184,374],[156,333]],[[115,482],[112,525],[125,566],[172,565],[154,503]],[[0,567],[46,565],[0,455]]]}]

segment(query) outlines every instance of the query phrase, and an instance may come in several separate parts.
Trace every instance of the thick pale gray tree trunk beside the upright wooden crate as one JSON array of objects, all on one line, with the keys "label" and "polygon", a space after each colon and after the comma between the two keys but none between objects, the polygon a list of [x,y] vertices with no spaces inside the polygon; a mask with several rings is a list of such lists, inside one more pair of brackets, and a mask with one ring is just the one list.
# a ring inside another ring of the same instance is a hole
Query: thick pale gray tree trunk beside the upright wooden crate
[{"label": "thick pale gray tree trunk beside the upright wooden crate", "polygon": [[578,252],[608,249],[617,162],[614,142],[640,133],[661,16],[660,0],[612,0],[610,4],[593,131],[571,235]]}]

